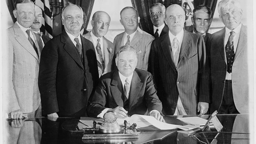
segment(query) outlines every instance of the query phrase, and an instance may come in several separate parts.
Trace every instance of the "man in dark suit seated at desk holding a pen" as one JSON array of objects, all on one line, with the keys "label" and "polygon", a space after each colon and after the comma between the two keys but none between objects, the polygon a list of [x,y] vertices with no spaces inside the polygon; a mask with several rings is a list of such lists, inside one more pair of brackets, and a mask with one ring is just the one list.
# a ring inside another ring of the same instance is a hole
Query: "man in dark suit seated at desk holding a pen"
[{"label": "man in dark suit seated at desk holding a pen", "polygon": [[90,97],[88,115],[103,117],[108,111],[117,113],[124,118],[127,114],[149,114],[157,120],[164,121],[162,103],[156,95],[152,75],[137,65],[136,50],[129,45],[117,51],[115,59],[117,69],[103,75],[98,87]]}]

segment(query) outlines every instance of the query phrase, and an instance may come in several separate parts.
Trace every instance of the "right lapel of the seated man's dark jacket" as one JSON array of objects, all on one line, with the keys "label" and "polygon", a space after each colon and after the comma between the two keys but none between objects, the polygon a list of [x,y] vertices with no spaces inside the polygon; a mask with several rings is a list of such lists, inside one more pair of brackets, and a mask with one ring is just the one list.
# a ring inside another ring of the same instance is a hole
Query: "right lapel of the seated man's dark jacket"
[{"label": "right lapel of the seated man's dark jacket", "polygon": [[142,88],[143,83],[141,82],[136,71],[133,72],[133,78],[131,82],[130,94],[129,94],[129,110],[130,108],[136,104],[138,99],[138,94]]}]

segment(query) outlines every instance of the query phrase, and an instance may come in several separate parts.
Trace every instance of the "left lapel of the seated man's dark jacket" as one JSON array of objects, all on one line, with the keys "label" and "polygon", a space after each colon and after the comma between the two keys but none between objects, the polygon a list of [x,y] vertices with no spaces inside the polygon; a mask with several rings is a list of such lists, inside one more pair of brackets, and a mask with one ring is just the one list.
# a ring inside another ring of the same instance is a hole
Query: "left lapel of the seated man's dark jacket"
[{"label": "left lapel of the seated man's dark jacket", "polygon": [[113,74],[113,79],[110,84],[110,91],[116,104],[120,107],[123,107],[122,82],[119,78],[118,70],[116,70]]}]

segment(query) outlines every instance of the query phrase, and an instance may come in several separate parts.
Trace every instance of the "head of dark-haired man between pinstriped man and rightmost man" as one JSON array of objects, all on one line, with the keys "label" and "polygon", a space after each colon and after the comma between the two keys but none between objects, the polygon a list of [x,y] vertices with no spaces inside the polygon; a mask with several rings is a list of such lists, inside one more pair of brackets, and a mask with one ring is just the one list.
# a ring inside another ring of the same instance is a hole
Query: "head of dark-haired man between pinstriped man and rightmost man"
[{"label": "head of dark-haired man between pinstriped man and rightmost man", "polygon": [[207,39],[211,34],[207,33],[211,22],[212,22],[212,11],[209,7],[204,5],[199,5],[193,10],[193,17],[191,17],[192,23],[194,25],[194,34],[200,34],[203,36],[204,40]]}]

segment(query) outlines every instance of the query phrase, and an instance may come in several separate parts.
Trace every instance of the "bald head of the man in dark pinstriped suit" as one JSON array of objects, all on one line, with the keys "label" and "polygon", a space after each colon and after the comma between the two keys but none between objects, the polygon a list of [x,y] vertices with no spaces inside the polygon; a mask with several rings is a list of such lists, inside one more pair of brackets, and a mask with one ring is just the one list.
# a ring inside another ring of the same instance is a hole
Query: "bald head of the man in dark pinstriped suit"
[{"label": "bald head of the man in dark pinstriped suit", "polygon": [[165,11],[165,23],[169,31],[176,36],[183,29],[185,23],[185,11],[177,4],[170,5]]}]

